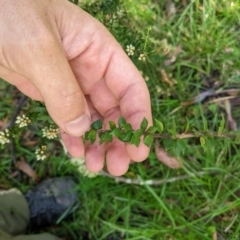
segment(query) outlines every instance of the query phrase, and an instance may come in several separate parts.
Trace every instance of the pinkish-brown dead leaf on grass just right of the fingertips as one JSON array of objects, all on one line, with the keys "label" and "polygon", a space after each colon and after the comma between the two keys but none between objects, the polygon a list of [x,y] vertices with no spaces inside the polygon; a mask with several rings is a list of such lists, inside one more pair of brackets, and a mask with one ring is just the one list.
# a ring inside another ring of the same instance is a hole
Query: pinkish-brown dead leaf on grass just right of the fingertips
[{"label": "pinkish-brown dead leaf on grass just right of the fingertips", "polygon": [[162,147],[160,147],[158,142],[155,142],[154,147],[155,154],[160,162],[173,169],[181,168],[181,162],[176,158],[171,157]]}]

